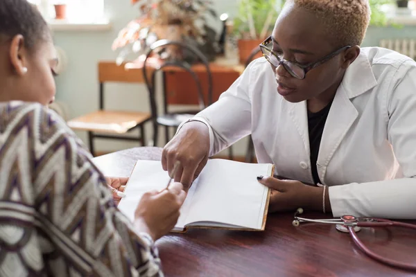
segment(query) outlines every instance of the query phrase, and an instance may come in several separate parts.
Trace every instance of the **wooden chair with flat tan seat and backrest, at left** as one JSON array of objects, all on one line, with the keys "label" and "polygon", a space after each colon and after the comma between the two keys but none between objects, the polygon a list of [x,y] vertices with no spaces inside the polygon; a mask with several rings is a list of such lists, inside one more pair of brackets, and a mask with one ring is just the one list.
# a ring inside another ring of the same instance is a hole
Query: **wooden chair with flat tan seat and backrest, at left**
[{"label": "wooden chair with flat tan seat and backrest, at left", "polygon": [[[94,152],[94,139],[98,138],[139,141],[142,146],[145,146],[144,124],[152,118],[150,113],[137,111],[110,111],[106,110],[104,107],[105,82],[143,83],[144,80],[141,78],[141,75],[138,75],[133,71],[125,71],[124,66],[117,66],[114,62],[99,62],[98,81],[100,84],[100,109],[69,120],[69,127],[88,132],[89,150],[94,156],[96,154]],[[139,129],[138,138],[121,136],[136,128]]]}]

